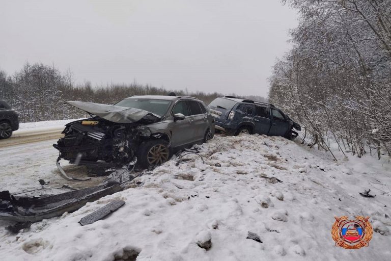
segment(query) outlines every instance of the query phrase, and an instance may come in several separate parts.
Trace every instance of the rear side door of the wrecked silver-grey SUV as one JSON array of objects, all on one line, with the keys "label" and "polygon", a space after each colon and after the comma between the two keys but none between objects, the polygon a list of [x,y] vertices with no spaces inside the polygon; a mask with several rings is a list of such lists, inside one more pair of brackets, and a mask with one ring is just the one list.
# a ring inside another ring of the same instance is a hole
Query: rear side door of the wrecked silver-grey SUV
[{"label": "rear side door of the wrecked silver-grey SUV", "polygon": [[187,100],[187,105],[190,110],[190,125],[194,128],[195,135],[191,137],[191,142],[197,142],[204,139],[205,126],[208,122],[208,115],[202,112],[201,104],[195,100]]}]

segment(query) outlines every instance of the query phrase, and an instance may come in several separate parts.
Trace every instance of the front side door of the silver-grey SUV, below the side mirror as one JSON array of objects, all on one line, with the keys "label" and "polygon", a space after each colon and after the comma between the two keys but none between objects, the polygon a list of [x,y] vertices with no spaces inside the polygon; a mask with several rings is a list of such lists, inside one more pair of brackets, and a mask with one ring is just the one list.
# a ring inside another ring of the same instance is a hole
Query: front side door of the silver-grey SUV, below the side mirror
[{"label": "front side door of the silver-grey SUV, below the side mirror", "polygon": [[197,131],[192,127],[193,119],[190,117],[186,100],[180,100],[175,103],[171,115],[174,116],[177,113],[182,113],[185,115],[185,118],[171,123],[171,146],[174,148],[190,143],[191,137],[197,135]]}]

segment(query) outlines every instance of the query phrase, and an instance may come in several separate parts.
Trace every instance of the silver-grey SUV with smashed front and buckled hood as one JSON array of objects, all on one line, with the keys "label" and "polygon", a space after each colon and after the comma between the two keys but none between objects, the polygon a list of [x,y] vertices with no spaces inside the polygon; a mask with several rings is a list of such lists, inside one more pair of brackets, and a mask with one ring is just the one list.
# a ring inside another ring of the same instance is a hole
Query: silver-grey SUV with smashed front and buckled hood
[{"label": "silver-grey SUV with smashed front and buckled hood", "polygon": [[[214,119],[204,103],[187,96],[135,95],[116,105],[67,101],[91,118],[68,123],[53,146],[59,160],[160,165],[172,153],[213,138]],[[59,166],[59,165],[58,165]]]}]

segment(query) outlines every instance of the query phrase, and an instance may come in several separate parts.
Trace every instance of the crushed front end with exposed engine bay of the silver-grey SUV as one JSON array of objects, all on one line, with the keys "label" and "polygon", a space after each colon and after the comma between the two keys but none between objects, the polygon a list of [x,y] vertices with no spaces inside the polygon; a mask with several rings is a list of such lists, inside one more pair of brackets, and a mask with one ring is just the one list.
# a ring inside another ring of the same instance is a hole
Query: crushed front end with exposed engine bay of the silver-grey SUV
[{"label": "crushed front end with exposed engine bay of the silver-grey SUV", "polygon": [[71,164],[129,163],[141,142],[142,125],[115,123],[98,117],[68,123],[54,148]]}]

